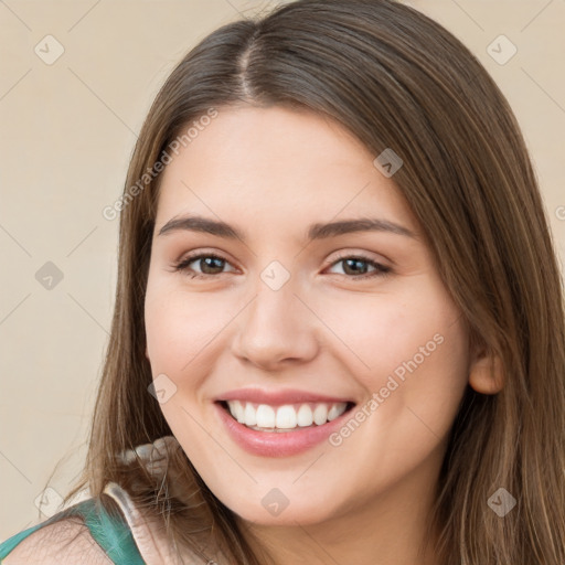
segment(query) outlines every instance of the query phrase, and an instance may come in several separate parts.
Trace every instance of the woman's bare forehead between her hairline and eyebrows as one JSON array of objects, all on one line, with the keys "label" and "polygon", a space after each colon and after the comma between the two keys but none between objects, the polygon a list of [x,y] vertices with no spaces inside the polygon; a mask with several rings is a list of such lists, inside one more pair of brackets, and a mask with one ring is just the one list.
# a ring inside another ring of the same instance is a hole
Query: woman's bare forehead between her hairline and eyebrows
[{"label": "woman's bare forehead between her hairline and eyebrows", "polygon": [[417,232],[397,186],[374,167],[375,157],[318,114],[220,108],[163,171],[157,225],[189,212],[287,227],[379,215]]}]

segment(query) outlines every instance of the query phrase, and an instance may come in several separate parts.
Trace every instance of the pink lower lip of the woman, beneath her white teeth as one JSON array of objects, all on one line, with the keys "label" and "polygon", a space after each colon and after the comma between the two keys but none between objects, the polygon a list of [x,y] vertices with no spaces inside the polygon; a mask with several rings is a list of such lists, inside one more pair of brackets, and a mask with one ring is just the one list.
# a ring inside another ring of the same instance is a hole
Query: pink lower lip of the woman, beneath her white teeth
[{"label": "pink lower lip of the woman, beneath her white teeth", "polygon": [[265,457],[298,455],[327,440],[330,434],[343,425],[351,409],[321,426],[297,428],[294,431],[257,431],[239,424],[218,403],[214,403],[227,433],[243,449]]}]

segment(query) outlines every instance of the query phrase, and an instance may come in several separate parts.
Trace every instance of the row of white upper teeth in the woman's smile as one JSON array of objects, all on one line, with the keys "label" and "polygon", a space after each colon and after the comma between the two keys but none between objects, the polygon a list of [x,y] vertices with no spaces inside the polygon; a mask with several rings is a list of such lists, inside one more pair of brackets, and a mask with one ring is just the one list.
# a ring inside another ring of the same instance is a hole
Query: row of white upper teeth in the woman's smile
[{"label": "row of white upper teeth in the woman's smile", "polygon": [[313,424],[321,426],[341,416],[348,405],[340,402],[329,405],[327,403],[286,404],[277,407],[268,404],[227,401],[227,406],[239,424],[254,429],[276,431],[309,427]]}]

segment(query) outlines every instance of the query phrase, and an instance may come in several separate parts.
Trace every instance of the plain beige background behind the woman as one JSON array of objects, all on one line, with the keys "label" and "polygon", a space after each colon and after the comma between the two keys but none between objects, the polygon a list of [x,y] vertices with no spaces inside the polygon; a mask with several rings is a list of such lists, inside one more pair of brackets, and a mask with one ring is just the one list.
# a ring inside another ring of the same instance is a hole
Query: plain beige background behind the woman
[{"label": "plain beige background behind the woman", "polygon": [[[83,461],[116,280],[118,223],[102,210],[120,195],[150,103],[192,45],[274,3],[0,1],[0,541],[45,520]],[[508,96],[563,265],[565,0],[406,3],[455,33]],[[56,53],[49,34],[64,47],[52,65],[34,52]],[[500,34],[518,47],[503,65],[487,51]],[[51,289],[35,278],[47,262],[63,274]]]}]

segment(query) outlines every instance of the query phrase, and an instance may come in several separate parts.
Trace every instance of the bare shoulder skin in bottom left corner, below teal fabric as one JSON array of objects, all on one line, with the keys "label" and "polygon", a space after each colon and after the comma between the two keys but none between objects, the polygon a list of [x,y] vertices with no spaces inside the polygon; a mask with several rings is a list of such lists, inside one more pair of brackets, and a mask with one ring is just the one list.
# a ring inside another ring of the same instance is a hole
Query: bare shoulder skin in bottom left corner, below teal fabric
[{"label": "bare shoulder skin in bottom left corner, below teal fabric", "polygon": [[113,562],[77,516],[40,527],[2,561],[2,565],[108,565]]}]

